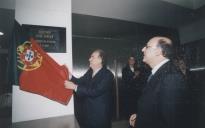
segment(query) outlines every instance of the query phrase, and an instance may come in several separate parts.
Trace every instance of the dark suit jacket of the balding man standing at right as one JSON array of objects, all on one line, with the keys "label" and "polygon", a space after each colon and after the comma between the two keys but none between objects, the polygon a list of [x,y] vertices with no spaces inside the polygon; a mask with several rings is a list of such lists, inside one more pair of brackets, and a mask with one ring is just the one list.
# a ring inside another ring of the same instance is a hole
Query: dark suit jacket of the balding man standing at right
[{"label": "dark suit jacket of the balding man standing at right", "polygon": [[182,73],[171,62],[162,65],[139,99],[137,128],[187,128],[188,92]]}]

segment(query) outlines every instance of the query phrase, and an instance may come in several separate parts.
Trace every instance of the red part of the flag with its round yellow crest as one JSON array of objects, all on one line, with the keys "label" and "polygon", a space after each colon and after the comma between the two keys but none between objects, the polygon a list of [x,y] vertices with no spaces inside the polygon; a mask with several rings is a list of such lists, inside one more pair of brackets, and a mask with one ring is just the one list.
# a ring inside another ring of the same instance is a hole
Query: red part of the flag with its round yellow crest
[{"label": "red part of the flag with its round yellow crest", "polygon": [[57,64],[34,39],[18,46],[17,55],[17,66],[22,70],[19,77],[21,90],[68,104],[72,90],[64,87],[69,75],[65,66]]}]

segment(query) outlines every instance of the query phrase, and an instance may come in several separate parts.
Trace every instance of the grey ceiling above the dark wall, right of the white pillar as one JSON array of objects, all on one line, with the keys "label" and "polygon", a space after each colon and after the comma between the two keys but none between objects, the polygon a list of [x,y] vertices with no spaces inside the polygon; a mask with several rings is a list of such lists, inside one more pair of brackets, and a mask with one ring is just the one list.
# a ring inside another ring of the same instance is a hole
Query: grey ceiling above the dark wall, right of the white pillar
[{"label": "grey ceiling above the dark wall, right of the white pillar", "polygon": [[192,21],[205,0],[74,0],[72,12],[177,28]]}]

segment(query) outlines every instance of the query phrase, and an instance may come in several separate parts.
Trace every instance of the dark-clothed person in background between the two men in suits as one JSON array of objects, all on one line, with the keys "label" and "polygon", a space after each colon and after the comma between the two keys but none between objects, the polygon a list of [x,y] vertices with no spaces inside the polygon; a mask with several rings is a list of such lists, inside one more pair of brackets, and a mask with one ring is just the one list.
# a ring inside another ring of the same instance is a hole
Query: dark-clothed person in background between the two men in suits
[{"label": "dark-clothed person in background between the two men in suits", "polygon": [[138,66],[134,56],[129,56],[126,66],[122,69],[123,106],[125,106],[125,116],[127,118],[130,114],[137,112],[137,100],[141,95],[145,81],[145,70]]}]

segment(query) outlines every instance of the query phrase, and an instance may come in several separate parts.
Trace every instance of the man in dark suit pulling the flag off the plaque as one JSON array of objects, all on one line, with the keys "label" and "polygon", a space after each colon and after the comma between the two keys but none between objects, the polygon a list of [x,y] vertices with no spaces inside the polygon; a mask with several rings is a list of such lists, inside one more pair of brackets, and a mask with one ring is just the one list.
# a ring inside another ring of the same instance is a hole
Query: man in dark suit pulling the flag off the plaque
[{"label": "man in dark suit pulling the flag off the plaque", "polygon": [[105,66],[105,53],[95,50],[89,59],[90,68],[79,79],[72,76],[65,88],[73,89],[81,100],[81,128],[111,128],[113,74]]}]

